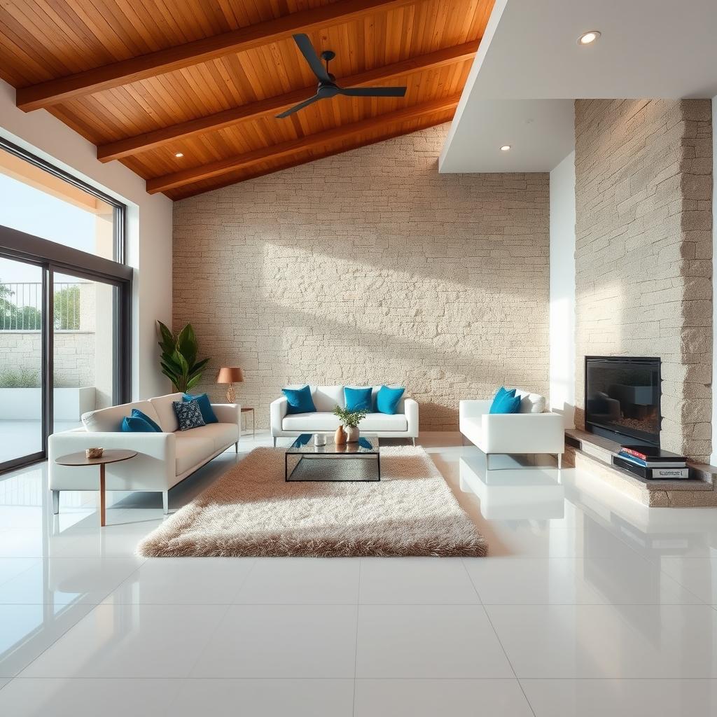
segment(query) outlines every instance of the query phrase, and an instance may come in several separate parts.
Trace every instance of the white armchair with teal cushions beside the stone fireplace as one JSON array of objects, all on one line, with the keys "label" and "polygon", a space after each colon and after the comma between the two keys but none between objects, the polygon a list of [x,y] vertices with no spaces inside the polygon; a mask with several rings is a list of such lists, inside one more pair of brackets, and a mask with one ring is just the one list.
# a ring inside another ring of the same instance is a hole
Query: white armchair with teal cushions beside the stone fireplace
[{"label": "white armchair with teal cushions beside the stone fireplace", "polygon": [[539,394],[516,389],[516,396],[521,397],[520,412],[511,414],[489,413],[492,400],[461,401],[460,432],[485,453],[487,467],[494,453],[549,453],[558,457],[561,467],[565,450],[563,417],[546,412],[546,399]]}]

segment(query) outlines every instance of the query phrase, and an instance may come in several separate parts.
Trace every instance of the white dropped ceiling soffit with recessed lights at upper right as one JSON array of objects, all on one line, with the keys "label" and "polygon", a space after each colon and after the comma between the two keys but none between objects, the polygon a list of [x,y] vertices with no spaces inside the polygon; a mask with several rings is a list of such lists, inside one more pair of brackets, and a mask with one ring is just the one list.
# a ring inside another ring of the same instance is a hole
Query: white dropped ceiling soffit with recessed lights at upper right
[{"label": "white dropped ceiling soffit with recessed lights at upper right", "polygon": [[440,171],[549,171],[575,98],[717,95],[716,32],[717,0],[496,0]]}]

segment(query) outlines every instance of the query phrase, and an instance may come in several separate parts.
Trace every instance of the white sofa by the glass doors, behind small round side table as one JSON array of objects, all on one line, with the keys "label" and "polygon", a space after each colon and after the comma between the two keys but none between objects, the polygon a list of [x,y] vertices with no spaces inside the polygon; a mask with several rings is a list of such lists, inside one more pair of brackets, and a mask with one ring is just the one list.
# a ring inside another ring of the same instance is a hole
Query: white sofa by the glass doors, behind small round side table
[{"label": "white sofa by the glass doors, behind small round side table", "polygon": [[[82,414],[82,427],[49,437],[49,488],[54,513],[60,505],[60,490],[99,490],[97,470],[56,465],[54,460],[86,448],[136,450],[131,460],[111,463],[106,469],[106,490],[152,490],[162,493],[168,512],[168,490],[234,444],[239,451],[239,404],[212,404],[218,423],[187,431],[179,430],[173,401],[182,394],[168,394],[146,401],[122,404]],[[161,427],[161,433],[125,433],[122,419],[136,408]]]}]

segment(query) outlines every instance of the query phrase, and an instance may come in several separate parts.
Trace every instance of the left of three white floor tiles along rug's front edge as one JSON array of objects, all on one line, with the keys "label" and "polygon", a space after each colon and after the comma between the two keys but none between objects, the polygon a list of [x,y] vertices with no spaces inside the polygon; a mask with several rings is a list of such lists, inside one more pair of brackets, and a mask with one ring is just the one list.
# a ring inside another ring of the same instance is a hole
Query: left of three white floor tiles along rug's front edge
[{"label": "left of three white floor tiles along rug's front edge", "polygon": [[229,604],[253,564],[253,558],[148,558],[104,602]]}]

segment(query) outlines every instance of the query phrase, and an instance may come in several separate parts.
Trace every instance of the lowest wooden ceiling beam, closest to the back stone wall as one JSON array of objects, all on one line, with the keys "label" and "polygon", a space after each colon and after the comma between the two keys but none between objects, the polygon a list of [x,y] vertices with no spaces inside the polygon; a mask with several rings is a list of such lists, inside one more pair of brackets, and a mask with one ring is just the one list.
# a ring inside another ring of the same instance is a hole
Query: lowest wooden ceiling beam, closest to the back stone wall
[{"label": "lowest wooden ceiling beam, closest to the back stone wall", "polygon": [[251,152],[245,152],[226,159],[220,159],[216,162],[210,162],[198,167],[183,169],[171,174],[155,177],[147,180],[147,191],[149,194],[156,194],[159,191],[168,191],[178,186],[192,184],[203,179],[210,179],[214,176],[221,176],[238,169],[250,169],[258,163],[270,160],[280,159],[291,156],[294,153],[318,148],[326,145],[328,142],[340,141],[342,139],[351,138],[356,133],[372,132],[386,128],[387,125],[397,122],[407,122],[409,120],[417,120],[424,115],[446,112],[447,110],[455,110],[460,100],[459,95],[451,95],[447,98],[431,100],[430,102],[412,105],[410,107],[389,112],[384,115],[378,115],[359,122],[353,122],[348,125],[317,132],[305,137],[293,139],[288,142],[281,142],[269,147],[262,147]]}]

